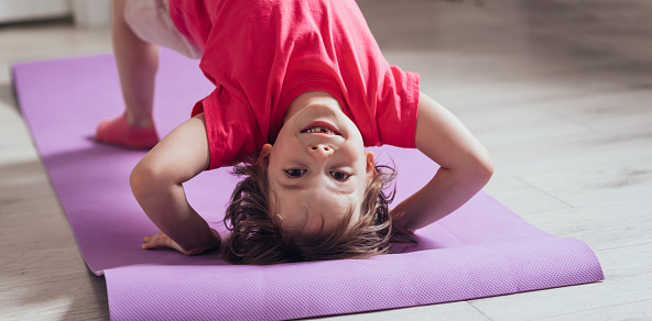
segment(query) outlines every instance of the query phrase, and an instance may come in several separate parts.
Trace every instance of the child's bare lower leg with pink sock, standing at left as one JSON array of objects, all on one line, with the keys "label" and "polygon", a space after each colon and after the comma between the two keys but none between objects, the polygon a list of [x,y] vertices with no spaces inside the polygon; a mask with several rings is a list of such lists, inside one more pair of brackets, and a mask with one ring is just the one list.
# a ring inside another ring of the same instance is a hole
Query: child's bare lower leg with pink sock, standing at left
[{"label": "child's bare lower leg with pink sock, standing at left", "polygon": [[131,148],[151,148],[159,137],[152,107],[159,69],[159,46],[138,37],[124,21],[126,0],[113,1],[113,51],[124,114],[98,125],[96,140]]}]

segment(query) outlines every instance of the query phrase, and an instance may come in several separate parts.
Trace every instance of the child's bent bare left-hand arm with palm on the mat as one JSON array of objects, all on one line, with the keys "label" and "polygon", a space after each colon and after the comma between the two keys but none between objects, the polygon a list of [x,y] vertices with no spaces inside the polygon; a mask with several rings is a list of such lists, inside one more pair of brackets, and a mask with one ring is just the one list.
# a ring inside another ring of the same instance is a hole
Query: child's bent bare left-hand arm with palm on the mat
[{"label": "child's bent bare left-hand arm with palm on the mat", "polygon": [[191,207],[182,185],[208,168],[209,162],[202,113],[177,126],[138,163],[131,189],[163,232],[146,236],[143,248],[167,246],[194,255],[219,246],[219,234]]}]

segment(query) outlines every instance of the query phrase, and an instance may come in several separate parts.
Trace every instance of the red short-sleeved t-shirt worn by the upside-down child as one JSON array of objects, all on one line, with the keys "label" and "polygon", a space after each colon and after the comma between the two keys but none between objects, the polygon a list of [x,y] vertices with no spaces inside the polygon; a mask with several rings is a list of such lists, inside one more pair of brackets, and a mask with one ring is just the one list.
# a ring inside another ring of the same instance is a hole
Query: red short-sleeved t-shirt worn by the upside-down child
[{"label": "red short-sleeved t-shirt worn by the upside-down child", "polygon": [[172,0],[178,30],[216,86],[198,101],[210,168],[273,143],[300,95],[334,96],[366,146],[414,147],[419,75],[391,66],[354,0]]}]

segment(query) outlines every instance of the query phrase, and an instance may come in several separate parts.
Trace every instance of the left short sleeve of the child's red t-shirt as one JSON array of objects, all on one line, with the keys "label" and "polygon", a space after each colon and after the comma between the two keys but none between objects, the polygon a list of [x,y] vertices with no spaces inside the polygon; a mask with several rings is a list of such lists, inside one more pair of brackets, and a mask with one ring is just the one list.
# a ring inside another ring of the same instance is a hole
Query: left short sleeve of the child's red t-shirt
[{"label": "left short sleeve of the child's red t-shirt", "polygon": [[257,140],[257,123],[251,110],[229,95],[221,86],[193,108],[193,115],[204,112],[210,150],[210,166],[215,169],[235,165],[259,153],[264,144]]}]

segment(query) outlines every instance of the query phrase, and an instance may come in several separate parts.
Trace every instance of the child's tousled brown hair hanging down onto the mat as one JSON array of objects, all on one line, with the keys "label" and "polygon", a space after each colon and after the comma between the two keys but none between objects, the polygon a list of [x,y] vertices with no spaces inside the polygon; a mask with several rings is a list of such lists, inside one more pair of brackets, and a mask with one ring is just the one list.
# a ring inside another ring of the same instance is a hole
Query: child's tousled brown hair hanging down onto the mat
[{"label": "child's tousled brown hair hanging down onto the mat", "polygon": [[232,173],[242,179],[231,195],[224,220],[231,231],[224,259],[233,264],[267,265],[389,253],[393,226],[388,204],[393,200],[395,188],[389,193],[385,188],[395,177],[395,170],[387,165],[377,165],[376,170],[378,175],[365,191],[358,222],[349,228],[351,209],[334,229],[325,231],[322,225],[316,234],[301,235],[283,231],[270,210],[267,166],[261,162],[235,166]]}]

